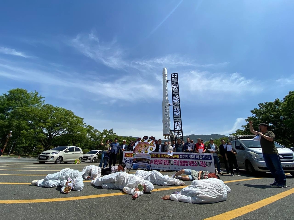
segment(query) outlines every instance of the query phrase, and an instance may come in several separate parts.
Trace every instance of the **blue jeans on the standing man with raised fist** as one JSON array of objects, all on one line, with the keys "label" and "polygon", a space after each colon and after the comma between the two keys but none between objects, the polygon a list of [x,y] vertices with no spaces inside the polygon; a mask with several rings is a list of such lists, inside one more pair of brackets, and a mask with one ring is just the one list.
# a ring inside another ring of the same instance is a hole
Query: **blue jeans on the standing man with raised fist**
[{"label": "blue jeans on the standing man with raised fist", "polygon": [[286,176],[281,165],[280,157],[277,154],[264,153],[263,159],[266,166],[270,170],[270,173],[275,178],[275,182],[278,184],[286,184]]}]

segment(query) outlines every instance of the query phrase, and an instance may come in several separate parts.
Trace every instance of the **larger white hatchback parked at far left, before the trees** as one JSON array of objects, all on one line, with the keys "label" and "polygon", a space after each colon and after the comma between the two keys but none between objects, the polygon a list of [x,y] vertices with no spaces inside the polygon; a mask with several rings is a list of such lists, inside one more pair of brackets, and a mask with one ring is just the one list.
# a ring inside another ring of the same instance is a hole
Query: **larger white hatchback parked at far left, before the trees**
[{"label": "larger white hatchback parked at far left, before the trees", "polygon": [[75,161],[76,159],[83,160],[83,151],[75,146],[58,146],[51,150],[45,150],[39,154],[37,161],[39,163],[54,162],[60,164]]}]

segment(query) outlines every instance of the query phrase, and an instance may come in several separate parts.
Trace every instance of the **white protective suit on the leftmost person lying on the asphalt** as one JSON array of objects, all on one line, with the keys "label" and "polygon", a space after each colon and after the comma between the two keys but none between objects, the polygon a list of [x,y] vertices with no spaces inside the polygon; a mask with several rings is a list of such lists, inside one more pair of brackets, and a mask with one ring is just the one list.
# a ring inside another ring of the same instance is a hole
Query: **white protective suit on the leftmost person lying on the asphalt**
[{"label": "white protective suit on the leftmost person lying on the asphalt", "polygon": [[57,173],[48,174],[45,179],[38,180],[37,186],[46,188],[62,186],[61,192],[64,192],[64,188],[66,187],[65,184],[69,177],[74,180],[74,188],[72,190],[81,191],[84,187],[81,172],[70,168],[65,168]]}]

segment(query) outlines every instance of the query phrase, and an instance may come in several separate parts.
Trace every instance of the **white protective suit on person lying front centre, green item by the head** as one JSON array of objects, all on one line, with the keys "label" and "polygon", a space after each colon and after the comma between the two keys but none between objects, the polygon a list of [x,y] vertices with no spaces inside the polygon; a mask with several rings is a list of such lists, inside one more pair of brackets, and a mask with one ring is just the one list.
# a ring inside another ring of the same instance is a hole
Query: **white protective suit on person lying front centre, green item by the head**
[{"label": "white protective suit on person lying front centre, green item by the head", "polygon": [[111,173],[92,180],[90,184],[101,186],[103,189],[123,189],[123,192],[127,194],[138,194],[138,196],[143,195],[143,192],[135,192],[135,188],[138,187],[138,184],[146,185],[146,192],[153,190],[151,182],[126,172]]}]

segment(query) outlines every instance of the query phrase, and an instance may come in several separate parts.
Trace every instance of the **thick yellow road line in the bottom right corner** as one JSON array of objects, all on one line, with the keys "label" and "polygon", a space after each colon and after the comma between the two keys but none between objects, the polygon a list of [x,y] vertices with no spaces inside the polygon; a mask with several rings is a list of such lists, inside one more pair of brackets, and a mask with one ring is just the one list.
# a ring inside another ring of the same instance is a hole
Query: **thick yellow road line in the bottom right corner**
[{"label": "thick yellow road line in the bottom right corner", "polygon": [[252,203],[250,205],[247,205],[247,206],[243,206],[243,207],[240,207],[238,209],[234,209],[232,211],[227,211],[225,213],[222,213],[222,214],[219,214],[219,215],[216,215],[216,216],[212,216],[210,218],[207,218],[207,219],[203,219],[203,220],[221,220],[221,219],[226,219],[226,220],[230,220],[230,219],[234,219],[234,218],[237,218],[239,216],[242,216],[242,215],[245,215],[247,214],[248,212],[251,212],[251,211],[255,211],[256,209],[260,209],[261,207],[264,207],[270,203],[273,203],[279,199],[282,199],[290,194],[294,193],[294,188],[292,189],[289,189],[285,192],[281,192],[277,195],[274,195],[274,196],[271,196],[271,197],[268,197],[266,199],[263,199],[263,200],[260,200],[258,202],[255,202],[255,203]]}]

